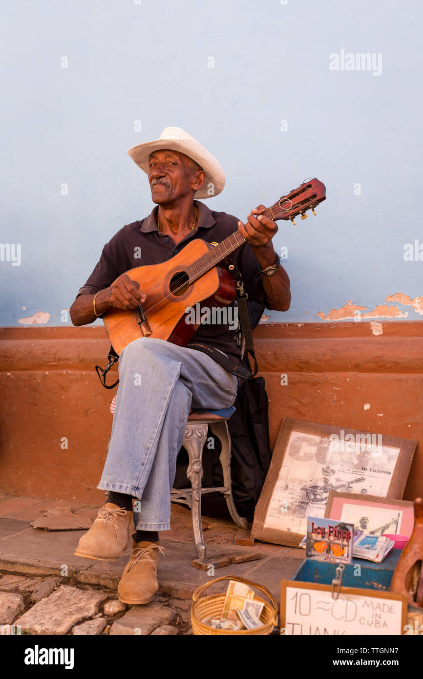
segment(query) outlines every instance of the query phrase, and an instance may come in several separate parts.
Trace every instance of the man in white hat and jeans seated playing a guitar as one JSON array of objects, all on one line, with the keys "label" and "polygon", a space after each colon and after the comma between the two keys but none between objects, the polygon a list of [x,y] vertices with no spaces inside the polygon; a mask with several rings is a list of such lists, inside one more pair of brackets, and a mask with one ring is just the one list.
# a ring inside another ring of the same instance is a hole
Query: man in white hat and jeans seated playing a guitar
[{"label": "man in white hat and jeans seated playing a guitar", "polygon": [[[74,325],[92,323],[113,307],[132,310],[143,304],[142,286],[125,273],[131,268],[162,263],[192,238],[212,247],[238,229],[246,243],[232,260],[246,292],[269,309],[289,308],[289,278],[271,242],[277,227],[261,217],[264,206],[251,210],[244,224],[194,200],[217,195],[225,185],[211,153],[180,128],[166,128],[160,139],[128,153],[147,173],[156,206],[105,245],[71,306]],[[190,409],[227,408],[236,398],[240,352],[224,318],[200,325],[187,347],[141,337],[120,354],[110,448],[98,485],[108,498],[75,554],[117,559],[128,547],[133,518],[132,552],[118,587],[127,604],[147,604],[158,590],[158,558],[164,553],[158,532],[170,530],[170,489]]]}]

